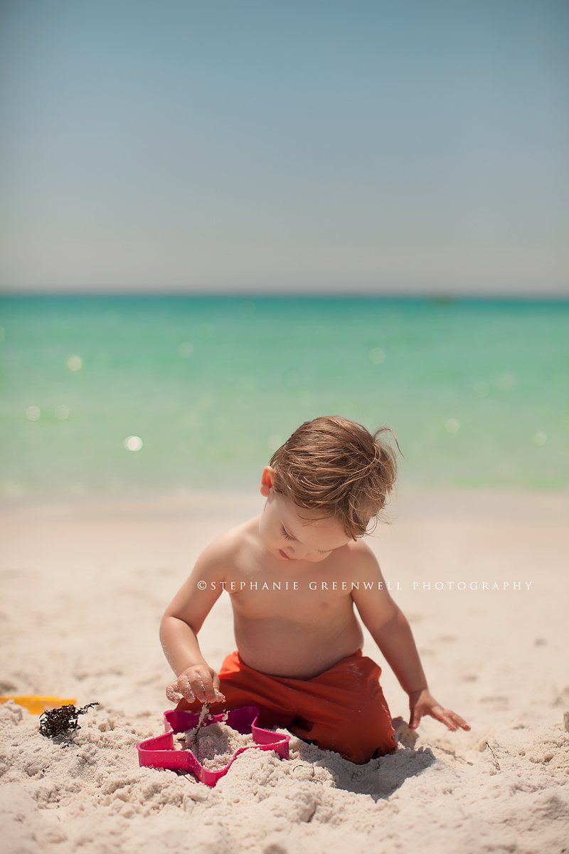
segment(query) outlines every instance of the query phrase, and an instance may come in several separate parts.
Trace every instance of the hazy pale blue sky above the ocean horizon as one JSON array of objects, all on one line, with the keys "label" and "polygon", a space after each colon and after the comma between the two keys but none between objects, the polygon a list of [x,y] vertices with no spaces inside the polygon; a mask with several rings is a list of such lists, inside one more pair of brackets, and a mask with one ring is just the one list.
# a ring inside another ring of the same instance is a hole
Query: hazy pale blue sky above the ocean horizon
[{"label": "hazy pale blue sky above the ocean horizon", "polygon": [[569,4],[2,5],[3,290],[566,294]]}]

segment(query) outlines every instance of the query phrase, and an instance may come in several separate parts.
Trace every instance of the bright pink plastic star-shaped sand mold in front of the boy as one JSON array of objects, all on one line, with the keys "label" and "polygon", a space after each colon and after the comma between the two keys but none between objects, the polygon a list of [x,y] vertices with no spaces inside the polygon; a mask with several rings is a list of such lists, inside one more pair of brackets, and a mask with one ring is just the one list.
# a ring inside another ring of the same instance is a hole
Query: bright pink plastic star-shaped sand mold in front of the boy
[{"label": "bright pink plastic star-shaped sand mold in front of the boy", "polygon": [[[256,726],[258,718],[257,706],[244,705],[241,706],[241,709],[229,711],[226,723],[229,727],[236,729],[238,733],[252,734],[256,744],[240,747],[227,765],[218,771],[211,771],[204,768],[193,753],[188,750],[176,750],[174,747],[174,735],[185,733],[186,730],[195,728],[199,718],[199,715],[191,711],[177,711],[177,709],[165,711],[165,734],[159,735],[154,739],[141,741],[136,746],[138,750],[138,763],[140,765],[152,765],[154,768],[168,768],[172,771],[191,771],[206,786],[215,786],[219,778],[227,774],[229,765],[243,751],[251,750],[252,748],[256,750],[274,750],[282,759],[288,758],[290,735],[272,733],[270,729],[259,728]],[[212,715],[210,719],[206,718],[204,727],[209,727],[216,721],[224,722],[224,715]]]}]

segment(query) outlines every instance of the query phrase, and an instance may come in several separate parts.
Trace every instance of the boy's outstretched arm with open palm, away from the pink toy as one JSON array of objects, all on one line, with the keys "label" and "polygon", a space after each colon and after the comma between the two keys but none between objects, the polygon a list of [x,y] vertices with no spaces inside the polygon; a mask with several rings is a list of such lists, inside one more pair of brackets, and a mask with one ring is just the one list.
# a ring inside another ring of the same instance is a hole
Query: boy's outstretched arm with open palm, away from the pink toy
[{"label": "boy's outstretched arm with open palm, away from the pink toy", "polygon": [[[374,589],[352,590],[351,596],[387,664],[409,694],[409,728],[417,728],[423,715],[431,715],[449,729],[470,729],[462,717],[445,709],[429,693],[409,623],[386,591],[380,567],[367,547],[362,553],[361,571],[358,573],[358,577],[363,576],[369,576],[367,580],[375,582]],[[378,589],[377,582],[382,582],[383,589]]]}]

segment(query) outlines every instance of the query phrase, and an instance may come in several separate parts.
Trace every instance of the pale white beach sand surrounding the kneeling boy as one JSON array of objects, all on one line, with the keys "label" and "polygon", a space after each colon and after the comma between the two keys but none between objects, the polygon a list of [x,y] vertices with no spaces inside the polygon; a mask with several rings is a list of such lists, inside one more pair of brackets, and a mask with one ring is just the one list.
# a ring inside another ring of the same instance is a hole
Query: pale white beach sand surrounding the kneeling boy
[{"label": "pale white beach sand surrounding the kneeling boy", "polygon": [[[424,720],[413,745],[401,727],[406,746],[366,766],[293,739],[289,761],[246,751],[214,789],[138,767],[136,743],[160,734],[171,708],[161,612],[201,548],[260,504],[188,494],[4,512],[0,693],[101,705],[67,746],[38,734],[38,717],[0,707],[3,851],[569,850],[566,495],[407,495],[370,541],[402,588],[433,693],[470,733]],[[218,667],[233,649],[229,597],[200,640]],[[364,652],[383,664],[369,638]],[[387,667],[382,685],[406,717]]]}]

